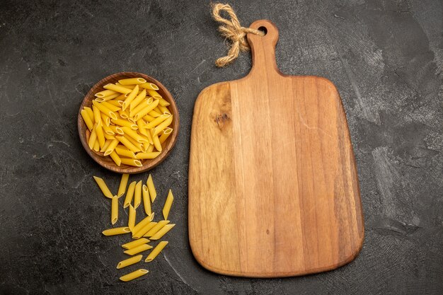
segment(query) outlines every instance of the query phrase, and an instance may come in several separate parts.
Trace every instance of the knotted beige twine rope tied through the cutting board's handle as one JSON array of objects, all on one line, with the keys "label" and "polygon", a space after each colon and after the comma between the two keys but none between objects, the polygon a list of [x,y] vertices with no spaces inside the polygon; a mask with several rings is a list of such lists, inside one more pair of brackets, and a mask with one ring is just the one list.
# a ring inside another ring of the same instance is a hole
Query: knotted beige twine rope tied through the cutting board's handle
[{"label": "knotted beige twine rope tied through the cutting board's handle", "polygon": [[[224,18],[220,15],[222,11],[228,13],[229,18]],[[212,6],[212,17],[215,21],[222,23],[219,26],[219,31],[226,39],[231,41],[231,45],[229,46],[229,51],[226,57],[220,57],[217,59],[215,64],[219,67],[226,66],[238,57],[240,52],[249,51],[250,47],[248,41],[246,40],[247,33],[253,33],[255,35],[264,36],[260,30],[255,30],[251,28],[244,28],[240,25],[236,13],[229,4],[214,4]]]}]

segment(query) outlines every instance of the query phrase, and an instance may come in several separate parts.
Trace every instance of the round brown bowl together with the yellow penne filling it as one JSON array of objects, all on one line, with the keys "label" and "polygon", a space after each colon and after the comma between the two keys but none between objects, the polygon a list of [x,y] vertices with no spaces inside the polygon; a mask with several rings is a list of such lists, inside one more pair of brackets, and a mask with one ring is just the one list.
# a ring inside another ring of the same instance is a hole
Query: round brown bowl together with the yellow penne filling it
[{"label": "round brown bowl together with the yellow penne filling it", "polygon": [[142,173],[176,144],[178,110],[171,93],[145,74],[121,72],[96,83],[80,105],[79,137],[100,166]]}]

